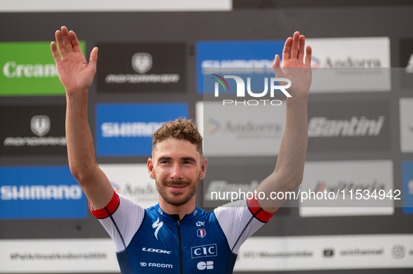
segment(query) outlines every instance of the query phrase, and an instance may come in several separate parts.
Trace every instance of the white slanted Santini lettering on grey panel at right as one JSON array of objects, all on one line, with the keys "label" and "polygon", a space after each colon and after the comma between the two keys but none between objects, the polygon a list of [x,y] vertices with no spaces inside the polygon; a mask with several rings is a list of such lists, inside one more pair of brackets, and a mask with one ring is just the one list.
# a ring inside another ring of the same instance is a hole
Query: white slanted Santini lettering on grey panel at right
[{"label": "white slanted Santini lettering on grey panel at right", "polygon": [[377,136],[382,130],[384,116],[377,120],[353,116],[350,120],[327,120],[327,117],[312,117],[308,123],[308,137],[356,137]]}]

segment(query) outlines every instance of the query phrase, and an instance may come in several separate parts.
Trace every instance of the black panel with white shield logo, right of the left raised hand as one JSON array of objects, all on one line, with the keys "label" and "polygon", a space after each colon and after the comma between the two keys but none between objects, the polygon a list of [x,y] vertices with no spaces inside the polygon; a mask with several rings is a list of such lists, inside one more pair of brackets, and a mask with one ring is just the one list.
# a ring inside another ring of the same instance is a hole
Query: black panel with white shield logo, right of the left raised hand
[{"label": "black panel with white shield logo, right of the left raised hand", "polygon": [[97,46],[98,93],[186,91],[184,43],[102,43]]}]

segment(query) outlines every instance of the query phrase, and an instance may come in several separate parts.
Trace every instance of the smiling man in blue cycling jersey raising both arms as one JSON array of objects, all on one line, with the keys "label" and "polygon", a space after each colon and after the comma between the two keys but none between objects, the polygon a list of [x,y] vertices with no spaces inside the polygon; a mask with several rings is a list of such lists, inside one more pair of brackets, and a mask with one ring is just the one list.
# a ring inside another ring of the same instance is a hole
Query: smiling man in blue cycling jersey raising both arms
[{"label": "smiling man in blue cycling jersey raising both arms", "polygon": [[[87,122],[87,91],[98,49],[92,50],[88,64],[73,31],[62,26],[56,41],[51,48],[66,89],[69,165],[92,213],[115,242],[122,273],[232,273],[240,245],[268,222],[282,200],[252,197],[210,212],[196,207],[196,190],[208,161],[196,125],[185,119],[168,122],[152,135],[147,170],[157,185],[159,204],[144,209],[117,195],[96,163]],[[291,80],[292,97],[287,98],[287,125],[277,165],[256,189],[266,197],[293,191],[303,179],[311,48],[306,49],[305,62],[304,51],[305,38],[296,32],[285,42],[281,66],[278,55],[273,63],[277,77]]]}]

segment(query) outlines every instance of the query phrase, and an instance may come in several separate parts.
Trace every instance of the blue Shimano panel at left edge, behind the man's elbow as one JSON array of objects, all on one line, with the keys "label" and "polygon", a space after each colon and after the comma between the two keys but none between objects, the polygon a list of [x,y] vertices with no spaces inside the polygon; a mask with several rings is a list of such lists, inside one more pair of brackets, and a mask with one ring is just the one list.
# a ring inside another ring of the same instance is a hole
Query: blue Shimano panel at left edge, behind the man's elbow
[{"label": "blue Shimano panel at left edge, behind the man's elbow", "polygon": [[0,219],[87,218],[87,200],[68,166],[0,167]]}]

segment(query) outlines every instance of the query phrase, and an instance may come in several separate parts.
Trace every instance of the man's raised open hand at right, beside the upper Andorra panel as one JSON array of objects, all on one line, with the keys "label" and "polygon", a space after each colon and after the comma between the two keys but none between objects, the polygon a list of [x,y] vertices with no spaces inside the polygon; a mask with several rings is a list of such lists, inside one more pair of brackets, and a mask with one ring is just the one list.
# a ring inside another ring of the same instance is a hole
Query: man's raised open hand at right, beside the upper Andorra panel
[{"label": "man's raised open hand at right, beside the upper Andorra panel", "polygon": [[[275,55],[273,68],[277,78],[291,80],[291,88],[287,91],[294,98],[307,97],[311,85],[311,47],[307,46],[304,63],[305,37],[296,31],[293,38],[289,37],[282,50],[282,63],[280,56]],[[280,84],[284,85],[283,82]]]}]

